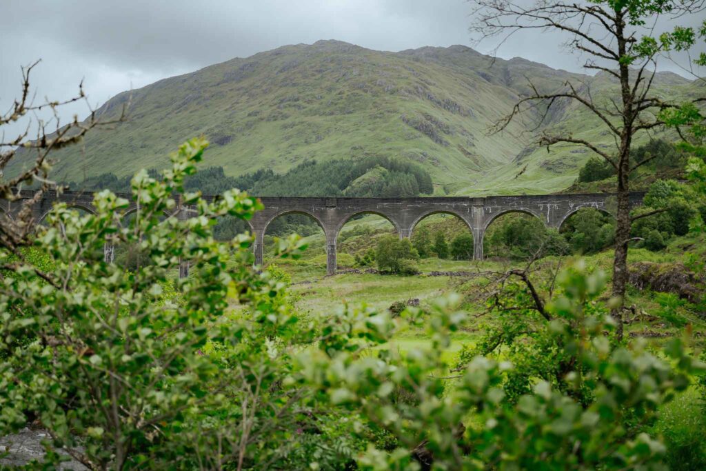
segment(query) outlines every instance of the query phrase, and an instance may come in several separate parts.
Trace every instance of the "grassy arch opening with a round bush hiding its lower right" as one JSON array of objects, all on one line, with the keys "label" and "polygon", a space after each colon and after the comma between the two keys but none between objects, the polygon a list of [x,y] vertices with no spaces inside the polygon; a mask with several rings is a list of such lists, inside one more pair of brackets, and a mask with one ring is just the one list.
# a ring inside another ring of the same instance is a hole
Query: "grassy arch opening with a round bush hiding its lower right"
[{"label": "grassy arch opening with a round bush hiding its lower right", "polygon": [[376,266],[378,243],[399,234],[395,222],[381,213],[362,211],[347,217],[336,229],[337,268]]}]

